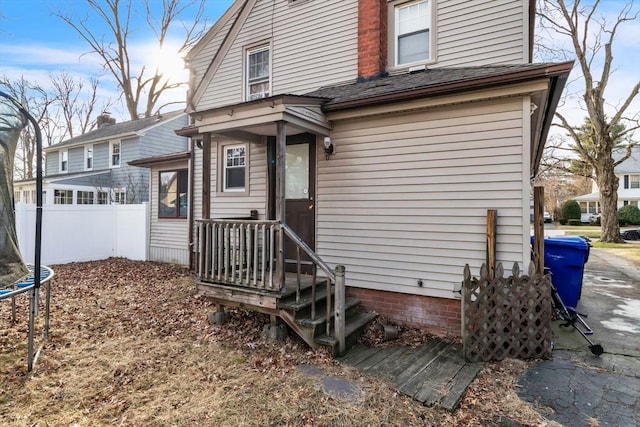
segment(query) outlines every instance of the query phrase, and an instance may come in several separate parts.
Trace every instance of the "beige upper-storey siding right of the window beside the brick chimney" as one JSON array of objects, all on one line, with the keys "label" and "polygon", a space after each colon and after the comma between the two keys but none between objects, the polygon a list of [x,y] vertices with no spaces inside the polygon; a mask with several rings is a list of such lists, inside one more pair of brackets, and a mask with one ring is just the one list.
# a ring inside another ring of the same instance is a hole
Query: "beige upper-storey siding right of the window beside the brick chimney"
[{"label": "beige upper-storey siding right of the window beside the brick chimney", "polygon": [[524,1],[438,1],[433,68],[522,64],[528,60]]}]

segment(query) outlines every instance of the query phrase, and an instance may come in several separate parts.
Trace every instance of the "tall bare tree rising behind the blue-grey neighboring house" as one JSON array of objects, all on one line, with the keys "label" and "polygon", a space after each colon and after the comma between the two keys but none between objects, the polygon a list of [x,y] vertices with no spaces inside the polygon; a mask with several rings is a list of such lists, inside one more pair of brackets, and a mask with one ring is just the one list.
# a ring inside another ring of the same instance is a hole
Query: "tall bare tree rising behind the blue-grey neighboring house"
[{"label": "tall bare tree rising behind the blue-grey neighboring house", "polygon": [[[140,117],[140,104],[144,102],[142,115],[150,117],[154,109],[161,107],[157,104],[159,98],[167,91],[186,85],[186,82],[172,82],[171,76],[164,76],[159,66],[143,64],[139,69],[134,69],[131,61],[130,42],[133,28],[131,28],[131,15],[136,13],[132,0],[87,0],[92,13],[100,21],[106,24],[109,34],[97,34],[89,23],[89,18],[75,19],[70,15],[58,12],[57,16],[69,24],[97,53],[103,61],[106,70],[116,79],[122,90],[127,111],[131,120]],[[137,3],[137,2],[136,2]],[[157,49],[161,51],[165,46],[169,32],[181,24],[184,38],[178,47],[178,56],[186,52],[204,33],[203,12],[205,0],[163,0],[161,16],[154,16],[152,2],[141,2],[144,8],[145,20],[155,35]],[[188,10],[195,10],[189,23],[180,18]],[[180,59],[175,58],[176,61]],[[146,97],[146,100],[143,98]]]}]

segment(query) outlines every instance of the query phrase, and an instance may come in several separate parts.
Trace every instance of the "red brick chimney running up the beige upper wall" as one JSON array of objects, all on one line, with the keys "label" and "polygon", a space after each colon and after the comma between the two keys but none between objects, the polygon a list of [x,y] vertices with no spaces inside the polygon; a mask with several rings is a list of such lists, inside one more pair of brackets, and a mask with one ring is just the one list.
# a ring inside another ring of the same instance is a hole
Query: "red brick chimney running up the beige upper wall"
[{"label": "red brick chimney running up the beige upper wall", "polygon": [[387,75],[387,1],[358,0],[358,80]]}]

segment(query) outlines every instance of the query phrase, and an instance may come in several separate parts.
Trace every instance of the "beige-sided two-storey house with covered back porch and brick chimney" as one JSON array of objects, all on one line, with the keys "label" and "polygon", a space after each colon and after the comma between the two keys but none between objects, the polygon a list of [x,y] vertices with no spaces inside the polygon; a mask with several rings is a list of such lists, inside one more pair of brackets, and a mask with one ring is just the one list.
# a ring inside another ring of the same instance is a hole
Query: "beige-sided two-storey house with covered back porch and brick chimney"
[{"label": "beige-sided two-storey house with covered back porch and brick chimney", "polygon": [[459,335],[487,210],[497,260],[530,263],[530,178],[572,68],[530,63],[534,3],[235,1],[186,58],[198,290],[304,337],[279,294],[308,247],[300,270],[344,265],[364,309]]}]

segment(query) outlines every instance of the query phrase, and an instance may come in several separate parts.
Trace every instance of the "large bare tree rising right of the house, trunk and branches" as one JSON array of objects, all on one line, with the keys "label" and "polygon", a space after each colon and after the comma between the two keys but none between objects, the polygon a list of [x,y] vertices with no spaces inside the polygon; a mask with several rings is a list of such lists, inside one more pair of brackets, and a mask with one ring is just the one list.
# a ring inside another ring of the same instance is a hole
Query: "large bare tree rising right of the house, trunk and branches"
[{"label": "large bare tree rising right of the house, trunk and branches", "polygon": [[[538,12],[540,25],[559,41],[568,40],[570,47],[565,52],[575,55],[584,86],[580,90],[580,105],[585,110],[590,129],[585,130],[572,125],[567,117],[556,113],[559,126],[567,132],[580,156],[594,171],[600,189],[602,208],[601,239],[605,242],[620,242],[620,227],[617,218],[618,178],[614,173],[617,163],[630,155],[633,143],[630,136],[640,127],[638,112],[627,115],[629,107],[640,90],[640,81],[631,87],[626,98],[617,105],[605,103],[605,92],[610,82],[613,67],[613,42],[622,24],[638,17],[633,2],[626,3],[617,14],[613,23],[598,9],[600,1],[582,4],[580,0],[541,0]],[[548,46],[547,46],[548,47]],[[556,49],[561,51],[562,48]],[[612,111],[609,115],[605,109]],[[625,125],[624,131],[615,134],[616,126]],[[585,145],[589,140],[592,147]],[[626,141],[625,152],[614,160],[613,149],[619,141]]]}]

